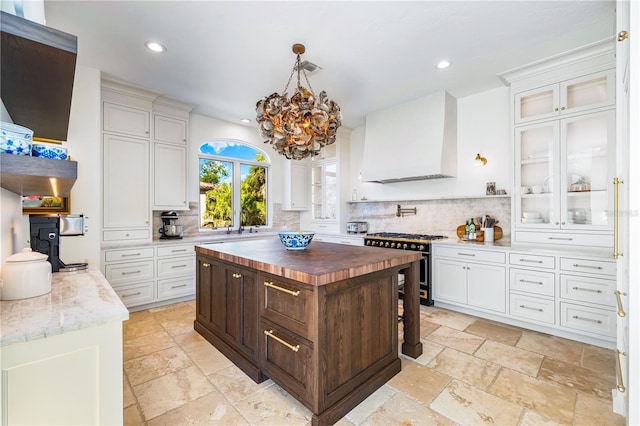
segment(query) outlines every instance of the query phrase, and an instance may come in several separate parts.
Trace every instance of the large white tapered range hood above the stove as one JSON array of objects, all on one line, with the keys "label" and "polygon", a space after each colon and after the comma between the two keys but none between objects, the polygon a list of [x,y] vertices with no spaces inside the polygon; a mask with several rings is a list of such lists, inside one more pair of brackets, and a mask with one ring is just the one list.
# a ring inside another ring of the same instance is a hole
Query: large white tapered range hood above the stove
[{"label": "large white tapered range hood above the stove", "polygon": [[441,91],[367,115],[361,176],[395,183],[457,174],[457,100]]}]

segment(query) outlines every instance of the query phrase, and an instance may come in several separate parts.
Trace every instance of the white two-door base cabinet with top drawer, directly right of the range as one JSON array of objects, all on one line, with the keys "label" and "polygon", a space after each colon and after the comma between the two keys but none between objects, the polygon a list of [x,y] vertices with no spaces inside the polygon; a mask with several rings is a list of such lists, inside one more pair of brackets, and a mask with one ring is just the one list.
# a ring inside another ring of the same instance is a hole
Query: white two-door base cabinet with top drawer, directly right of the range
[{"label": "white two-door base cabinet with top drawer, directly right of the range", "polygon": [[506,312],[507,279],[503,252],[435,247],[433,262],[435,300]]}]

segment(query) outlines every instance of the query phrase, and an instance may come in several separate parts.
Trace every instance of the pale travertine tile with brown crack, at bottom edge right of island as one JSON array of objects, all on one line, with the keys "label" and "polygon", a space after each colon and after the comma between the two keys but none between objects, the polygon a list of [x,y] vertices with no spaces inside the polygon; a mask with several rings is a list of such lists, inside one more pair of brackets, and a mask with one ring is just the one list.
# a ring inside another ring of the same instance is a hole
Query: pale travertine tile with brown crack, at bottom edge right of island
[{"label": "pale travertine tile with brown crack, at bottom edge right of island", "polygon": [[463,425],[515,425],[522,413],[517,404],[458,380],[449,383],[431,408]]}]

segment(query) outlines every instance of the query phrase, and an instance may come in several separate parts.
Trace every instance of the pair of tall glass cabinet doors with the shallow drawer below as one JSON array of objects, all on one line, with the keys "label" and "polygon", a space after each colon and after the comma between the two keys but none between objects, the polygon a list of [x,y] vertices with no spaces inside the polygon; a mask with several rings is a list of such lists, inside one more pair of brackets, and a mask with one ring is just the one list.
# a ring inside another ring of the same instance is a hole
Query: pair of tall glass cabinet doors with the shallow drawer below
[{"label": "pair of tall glass cabinet doors with the shallow drawer below", "polygon": [[516,241],[613,245],[615,111],[515,127]]}]

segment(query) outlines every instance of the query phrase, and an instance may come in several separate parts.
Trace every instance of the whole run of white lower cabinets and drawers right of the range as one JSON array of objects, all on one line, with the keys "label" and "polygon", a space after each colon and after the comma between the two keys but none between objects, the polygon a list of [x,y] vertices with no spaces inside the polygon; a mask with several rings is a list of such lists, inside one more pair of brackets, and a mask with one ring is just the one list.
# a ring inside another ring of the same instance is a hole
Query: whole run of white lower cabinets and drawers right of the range
[{"label": "whole run of white lower cabinets and drawers right of the range", "polygon": [[604,347],[615,342],[613,259],[445,243],[432,253],[436,306]]}]

